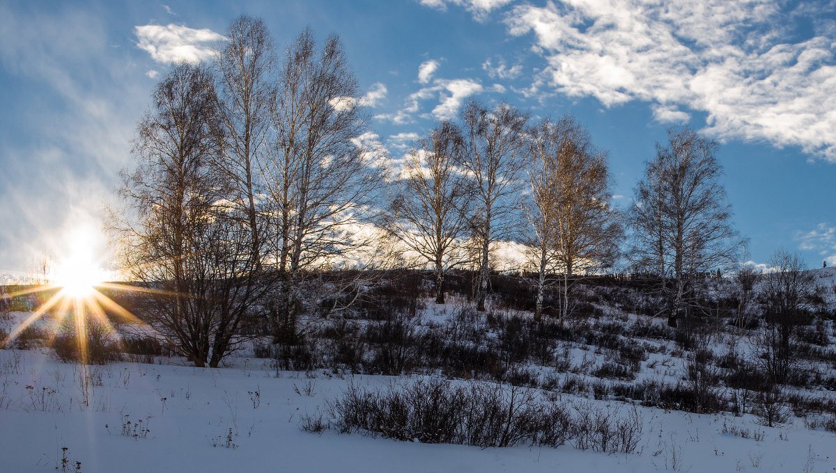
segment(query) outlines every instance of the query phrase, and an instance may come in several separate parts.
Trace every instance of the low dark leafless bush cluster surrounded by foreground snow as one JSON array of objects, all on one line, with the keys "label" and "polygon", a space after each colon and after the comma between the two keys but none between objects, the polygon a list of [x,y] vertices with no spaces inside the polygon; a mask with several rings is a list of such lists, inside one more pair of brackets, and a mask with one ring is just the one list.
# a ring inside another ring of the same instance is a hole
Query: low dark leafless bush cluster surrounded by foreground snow
[{"label": "low dark leafless bush cluster surrounded by foreground snow", "polygon": [[579,449],[636,450],[644,419],[635,408],[620,417],[591,403],[567,405],[538,400],[534,390],[481,382],[415,380],[368,390],[349,385],[330,404],[334,426],[396,440],[480,447],[571,441]]}]

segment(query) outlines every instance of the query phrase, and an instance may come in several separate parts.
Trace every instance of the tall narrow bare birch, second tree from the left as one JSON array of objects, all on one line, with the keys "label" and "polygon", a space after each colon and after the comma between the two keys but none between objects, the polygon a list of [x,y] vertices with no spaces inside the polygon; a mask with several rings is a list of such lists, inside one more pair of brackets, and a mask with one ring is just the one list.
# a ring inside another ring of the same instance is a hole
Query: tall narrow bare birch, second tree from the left
[{"label": "tall narrow bare birch, second tree from the left", "polygon": [[[273,93],[270,73],[273,39],[260,18],[241,16],[230,23],[215,57],[218,124],[223,132],[216,166],[232,183],[232,209],[250,229],[252,254],[260,256],[262,229],[257,209],[257,159],[264,152]],[[260,259],[255,259],[260,265]]]}]

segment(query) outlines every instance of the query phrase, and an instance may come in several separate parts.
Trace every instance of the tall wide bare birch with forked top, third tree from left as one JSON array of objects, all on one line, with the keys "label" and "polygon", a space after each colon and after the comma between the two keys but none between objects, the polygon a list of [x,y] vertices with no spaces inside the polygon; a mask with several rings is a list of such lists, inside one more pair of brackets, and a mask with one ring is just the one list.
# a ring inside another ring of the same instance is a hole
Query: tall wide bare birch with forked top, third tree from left
[{"label": "tall wide bare birch with forked top, third tree from left", "polygon": [[380,236],[361,231],[375,217],[383,179],[375,153],[359,142],[365,116],[339,38],[318,51],[305,29],[288,47],[271,121],[275,141],[261,169],[279,275],[273,322],[293,341],[303,277],[369,249]]}]

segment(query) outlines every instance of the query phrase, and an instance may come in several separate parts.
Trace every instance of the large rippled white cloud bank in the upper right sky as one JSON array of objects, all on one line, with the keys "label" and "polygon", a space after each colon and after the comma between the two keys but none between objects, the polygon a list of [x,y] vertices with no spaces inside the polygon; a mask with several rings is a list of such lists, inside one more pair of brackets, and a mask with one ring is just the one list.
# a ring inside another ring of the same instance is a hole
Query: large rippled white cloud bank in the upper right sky
[{"label": "large rippled white cloud bank in the upper right sky", "polygon": [[663,122],[699,110],[715,137],[836,162],[836,33],[819,22],[819,36],[788,42],[771,0],[558,0],[514,7],[506,22],[512,35],[533,33],[546,60],[535,83],[606,107],[655,103]]}]

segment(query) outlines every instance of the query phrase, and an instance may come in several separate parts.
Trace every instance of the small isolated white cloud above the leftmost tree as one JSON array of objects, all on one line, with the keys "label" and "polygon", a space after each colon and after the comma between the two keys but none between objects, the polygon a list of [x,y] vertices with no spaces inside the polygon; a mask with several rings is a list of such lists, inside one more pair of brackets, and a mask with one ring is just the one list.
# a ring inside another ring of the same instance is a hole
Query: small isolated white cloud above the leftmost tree
[{"label": "small isolated white cloud above the leftmost tree", "polygon": [[211,58],[215,51],[212,48],[225,39],[211,29],[192,29],[173,23],[137,26],[134,33],[139,39],[137,46],[158,63],[200,63]]}]

